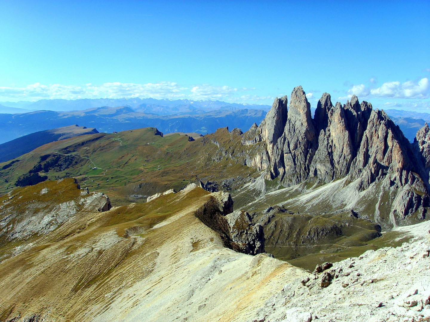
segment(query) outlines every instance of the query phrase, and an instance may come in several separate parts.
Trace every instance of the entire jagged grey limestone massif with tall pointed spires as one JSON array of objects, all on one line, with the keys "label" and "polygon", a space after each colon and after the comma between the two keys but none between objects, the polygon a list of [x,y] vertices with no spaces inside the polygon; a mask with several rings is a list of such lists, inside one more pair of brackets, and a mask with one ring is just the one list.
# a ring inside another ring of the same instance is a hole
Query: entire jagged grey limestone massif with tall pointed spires
[{"label": "entire jagged grey limestone massif with tall pointed spires", "polygon": [[412,146],[384,111],[359,103],[355,95],[343,106],[333,106],[330,95],[322,94],[314,118],[301,86],[292,91],[288,111],[286,103],[287,97],[276,98],[261,125],[243,134],[243,144],[261,142],[266,147],[248,158],[260,161],[258,167],[266,169],[267,179],[279,178],[289,187],[347,177],[357,194],[372,184],[381,186],[380,196],[396,190],[388,201],[394,225],[396,216],[402,219],[418,212],[424,218],[430,172],[428,125],[418,131]]}]

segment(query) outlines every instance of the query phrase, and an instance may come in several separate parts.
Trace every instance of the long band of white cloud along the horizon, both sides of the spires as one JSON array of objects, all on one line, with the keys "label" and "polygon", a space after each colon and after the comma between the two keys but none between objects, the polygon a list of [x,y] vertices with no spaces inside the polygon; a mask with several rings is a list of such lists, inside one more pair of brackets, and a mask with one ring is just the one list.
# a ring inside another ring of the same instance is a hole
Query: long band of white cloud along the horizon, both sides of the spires
[{"label": "long band of white cloud along the horizon, both sides of the spires", "polygon": [[[379,100],[379,105],[384,107],[402,107],[408,109],[430,108],[430,82],[427,77],[419,81],[390,81],[376,87],[375,79],[369,80],[370,85],[352,85],[344,91],[345,96],[338,97],[344,101],[356,95],[359,99]],[[82,98],[133,98],[152,97],[155,99],[190,99],[190,100],[221,100],[230,103],[271,103],[276,95],[259,96],[253,94],[255,88],[233,88],[227,85],[214,86],[209,84],[181,86],[175,82],[157,82],[147,84],[109,82],[102,85],[43,85],[35,83],[26,87],[0,87],[0,100],[27,100],[36,101],[42,99],[66,99],[76,100]],[[319,92],[319,91],[315,91]],[[283,96],[279,94],[277,96]],[[316,102],[317,97],[313,91],[306,94],[308,100]],[[386,103],[381,99],[391,100]],[[403,100],[403,103],[392,101]],[[409,102],[407,102],[409,101]],[[413,102],[412,102],[413,101]]]}]

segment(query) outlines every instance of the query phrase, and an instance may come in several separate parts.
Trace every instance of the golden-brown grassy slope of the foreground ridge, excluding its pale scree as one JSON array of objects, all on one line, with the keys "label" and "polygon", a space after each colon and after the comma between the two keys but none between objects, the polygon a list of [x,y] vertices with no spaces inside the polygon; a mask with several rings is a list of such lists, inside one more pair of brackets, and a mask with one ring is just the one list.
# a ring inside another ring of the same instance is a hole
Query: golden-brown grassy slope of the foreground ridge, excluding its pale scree
[{"label": "golden-brown grassy slope of the foreground ridge, excluding its pale scree", "polygon": [[[57,188],[49,199],[53,204],[73,198],[76,191],[80,192],[69,179],[22,188],[16,191],[15,197],[21,195],[21,200],[31,202],[34,194],[43,187],[51,191]],[[203,189],[194,189],[186,198],[170,194],[150,203],[117,207],[105,213],[80,213],[76,220],[51,232],[44,244],[35,245],[1,264],[3,305],[0,319],[3,320],[10,310],[24,312],[28,307],[35,312],[46,312],[49,307],[56,315],[71,320],[79,320],[77,316],[84,314],[89,306],[100,310],[106,304],[101,304],[104,295],[117,292],[116,288],[124,280],[132,284],[151,273],[157,248],[177,239],[190,222],[198,221],[190,215],[193,209],[206,202],[208,195]],[[176,229],[165,225],[151,230],[181,212],[191,213],[175,222]],[[144,243],[123,237],[125,229],[136,225],[146,231],[138,237]],[[70,231],[77,233],[64,235]],[[214,240],[216,236],[210,237]],[[97,243],[105,245],[97,249]],[[132,267],[142,269],[133,272]]]}]

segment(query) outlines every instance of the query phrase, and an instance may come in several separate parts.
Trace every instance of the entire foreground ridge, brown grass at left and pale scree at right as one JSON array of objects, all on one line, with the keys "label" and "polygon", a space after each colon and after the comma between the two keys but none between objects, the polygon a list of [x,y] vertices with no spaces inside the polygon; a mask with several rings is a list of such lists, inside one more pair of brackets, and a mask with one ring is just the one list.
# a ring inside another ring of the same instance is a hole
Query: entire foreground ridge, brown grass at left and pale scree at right
[{"label": "entire foreground ridge, brown grass at left and pale scree at right", "polygon": [[[17,192],[32,200],[34,193],[54,186],[61,188],[50,206],[64,200],[67,191],[69,197],[80,191],[73,179],[64,179]],[[180,310],[188,320],[206,321],[230,314],[242,298],[248,307],[241,314],[248,314],[262,305],[267,290],[282,288],[301,270],[224,248],[220,235],[197,218],[199,211],[207,212],[205,205],[219,211],[213,200],[195,188],[145,204],[77,213],[43,242],[36,240],[0,263],[0,320],[118,321],[137,315],[165,321]],[[136,227],[141,228],[137,234],[125,234]],[[208,298],[210,305],[203,305]]]}]

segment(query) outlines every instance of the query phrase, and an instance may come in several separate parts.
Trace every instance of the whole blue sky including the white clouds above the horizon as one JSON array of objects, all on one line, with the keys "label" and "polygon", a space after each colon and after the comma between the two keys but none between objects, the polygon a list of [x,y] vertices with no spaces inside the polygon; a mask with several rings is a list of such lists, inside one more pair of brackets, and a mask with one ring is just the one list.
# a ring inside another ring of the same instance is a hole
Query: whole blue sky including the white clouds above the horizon
[{"label": "whole blue sky including the white clouds above the horizon", "polygon": [[271,104],[302,85],[430,110],[429,1],[0,1],[0,101]]}]

